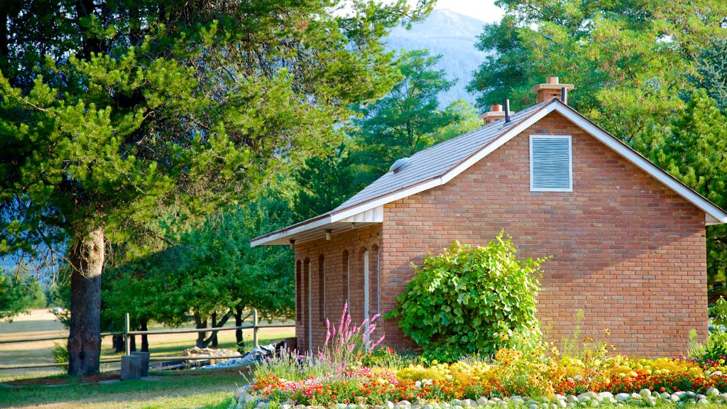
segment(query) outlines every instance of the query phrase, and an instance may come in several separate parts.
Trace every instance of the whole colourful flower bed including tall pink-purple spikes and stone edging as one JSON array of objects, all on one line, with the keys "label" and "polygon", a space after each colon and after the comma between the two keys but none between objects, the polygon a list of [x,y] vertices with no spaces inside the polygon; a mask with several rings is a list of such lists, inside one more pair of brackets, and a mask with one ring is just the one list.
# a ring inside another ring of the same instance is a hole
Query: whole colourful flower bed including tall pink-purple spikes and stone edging
[{"label": "whole colourful flower bed including tall pink-purple spikes and stone edging", "polygon": [[[374,317],[374,320],[376,317]],[[328,325],[328,324],[327,324]],[[316,355],[281,354],[254,370],[250,385],[236,392],[237,408],[462,409],[483,405],[529,405],[557,409],[576,405],[657,402],[727,403],[727,357],[623,357],[586,338],[576,354],[561,357],[552,344],[518,342],[492,357],[452,363],[374,349],[375,325],[350,325],[344,311],[329,327]],[[604,331],[608,335],[608,330]],[[428,406],[428,408],[427,408]]]}]

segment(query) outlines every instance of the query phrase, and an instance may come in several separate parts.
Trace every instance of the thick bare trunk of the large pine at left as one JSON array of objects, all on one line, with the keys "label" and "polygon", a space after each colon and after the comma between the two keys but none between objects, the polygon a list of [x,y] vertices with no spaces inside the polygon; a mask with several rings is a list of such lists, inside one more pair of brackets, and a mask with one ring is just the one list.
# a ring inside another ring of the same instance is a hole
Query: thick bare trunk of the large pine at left
[{"label": "thick bare trunk of the large pine at left", "polygon": [[71,325],[68,335],[68,375],[99,372],[101,355],[101,273],[105,255],[103,229],[74,237],[68,252],[71,265]]}]

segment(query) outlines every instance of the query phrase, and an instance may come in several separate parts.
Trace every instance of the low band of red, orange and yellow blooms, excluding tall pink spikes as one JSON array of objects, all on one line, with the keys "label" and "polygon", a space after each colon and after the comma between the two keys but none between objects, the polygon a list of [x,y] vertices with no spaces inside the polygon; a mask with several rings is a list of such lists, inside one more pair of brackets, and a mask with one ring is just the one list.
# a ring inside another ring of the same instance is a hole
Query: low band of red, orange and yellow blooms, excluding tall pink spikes
[{"label": "low band of red, orange and yellow blooms, excluding tall pink spikes", "polygon": [[[400,369],[347,368],[340,375],[285,379],[256,376],[239,402],[280,405],[386,405],[387,402],[510,402],[545,397],[555,405],[585,400],[619,402],[670,400],[694,402],[712,396],[727,402],[727,376],[686,360],[632,360],[610,357],[601,362],[545,358],[540,362],[516,351],[501,350],[497,360],[453,364],[407,365]],[[593,366],[588,366],[588,365]],[[711,371],[710,371],[711,370]],[[636,392],[636,393],[635,393]],[[653,394],[651,392],[654,392]],[[513,398],[515,397],[515,398]],[[514,399],[514,401],[513,401]],[[569,401],[570,399],[570,401]],[[406,403],[403,403],[406,405]],[[462,405],[466,406],[466,405]]]}]

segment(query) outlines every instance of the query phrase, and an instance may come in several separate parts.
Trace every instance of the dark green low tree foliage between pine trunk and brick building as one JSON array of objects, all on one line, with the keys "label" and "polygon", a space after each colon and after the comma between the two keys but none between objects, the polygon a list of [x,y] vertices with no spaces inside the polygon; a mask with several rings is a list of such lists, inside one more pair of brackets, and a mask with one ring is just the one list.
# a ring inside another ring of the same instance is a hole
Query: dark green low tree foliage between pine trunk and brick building
[{"label": "dark green low tree foliage between pine trunk and brick building", "polygon": [[287,247],[250,247],[254,237],[291,223],[289,204],[268,194],[223,213],[209,215],[182,232],[179,244],[108,271],[103,315],[132,326],[150,319],[168,325],[203,319],[213,312],[258,309],[260,317],[292,317],[294,275]]}]

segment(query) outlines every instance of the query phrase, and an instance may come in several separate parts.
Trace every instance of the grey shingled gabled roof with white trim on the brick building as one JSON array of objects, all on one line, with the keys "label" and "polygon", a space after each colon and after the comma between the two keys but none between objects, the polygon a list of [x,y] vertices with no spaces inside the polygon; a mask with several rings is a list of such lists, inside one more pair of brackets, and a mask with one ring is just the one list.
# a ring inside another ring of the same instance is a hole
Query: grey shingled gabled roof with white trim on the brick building
[{"label": "grey shingled gabled roof with white trim on the brick building", "polygon": [[387,172],[334,210],[257,237],[252,240],[251,245],[253,247],[287,245],[291,239],[302,242],[325,237],[326,231],[337,233],[353,229],[352,223],[356,223],[356,226],[381,223],[384,204],[449,182],[553,111],[566,116],[624,159],[699,207],[706,214],[707,224],[727,223],[727,213],[724,210],[657,167],[618,138],[590,122],[570,106],[553,98],[513,114],[510,122],[506,123],[505,119],[499,119],[477,130],[419,151],[409,158],[406,167],[397,172]]}]

